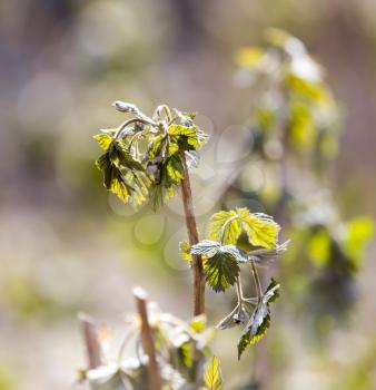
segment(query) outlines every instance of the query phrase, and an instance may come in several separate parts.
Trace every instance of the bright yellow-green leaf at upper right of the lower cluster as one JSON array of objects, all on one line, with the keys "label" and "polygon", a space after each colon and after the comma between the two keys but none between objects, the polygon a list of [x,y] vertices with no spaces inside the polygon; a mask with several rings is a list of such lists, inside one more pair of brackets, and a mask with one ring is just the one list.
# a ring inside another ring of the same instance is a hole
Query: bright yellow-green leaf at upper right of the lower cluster
[{"label": "bright yellow-green leaf at upper right of the lower cluster", "polygon": [[248,208],[237,208],[241,227],[255,246],[275,248],[278,242],[279,225],[273,217],[261,213],[251,214]]}]

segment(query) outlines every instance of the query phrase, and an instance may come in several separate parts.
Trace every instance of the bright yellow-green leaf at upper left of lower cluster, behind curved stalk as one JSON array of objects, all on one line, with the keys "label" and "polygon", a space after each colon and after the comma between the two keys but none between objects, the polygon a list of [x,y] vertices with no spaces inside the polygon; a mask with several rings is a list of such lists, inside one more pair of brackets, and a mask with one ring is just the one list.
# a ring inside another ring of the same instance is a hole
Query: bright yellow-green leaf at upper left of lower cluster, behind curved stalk
[{"label": "bright yellow-green leaf at upper left of lower cluster, behind curved stalk", "polygon": [[[208,225],[208,237],[214,241],[220,242],[220,236],[224,225],[228,220],[236,217],[237,213],[235,211],[218,212],[210,217]],[[227,224],[224,244],[236,244],[241,233],[241,227],[238,220],[234,220]]]}]

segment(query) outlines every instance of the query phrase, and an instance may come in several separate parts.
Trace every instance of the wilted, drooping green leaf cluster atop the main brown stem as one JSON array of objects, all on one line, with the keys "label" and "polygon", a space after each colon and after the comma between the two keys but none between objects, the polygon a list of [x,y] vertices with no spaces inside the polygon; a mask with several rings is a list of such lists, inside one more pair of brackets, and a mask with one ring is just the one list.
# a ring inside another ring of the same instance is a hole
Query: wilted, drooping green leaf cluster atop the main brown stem
[{"label": "wilted, drooping green leaf cluster atop the main brown stem", "polygon": [[103,185],[125,203],[139,207],[149,201],[157,209],[177,193],[185,170],[197,166],[207,135],[194,114],[159,106],[148,118],[133,105],[115,107],[132,118],[95,136],[105,152],[96,162]]}]

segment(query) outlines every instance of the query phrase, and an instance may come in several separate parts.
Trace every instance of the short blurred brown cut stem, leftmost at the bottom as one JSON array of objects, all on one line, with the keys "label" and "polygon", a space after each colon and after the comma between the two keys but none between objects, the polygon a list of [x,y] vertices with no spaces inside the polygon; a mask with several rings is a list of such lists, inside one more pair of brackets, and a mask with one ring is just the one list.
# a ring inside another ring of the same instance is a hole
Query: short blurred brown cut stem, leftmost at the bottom
[{"label": "short blurred brown cut stem, leftmost at the bottom", "polygon": [[85,313],[78,314],[78,321],[81,325],[83,342],[87,350],[88,368],[92,370],[101,364],[97,326],[95,321]]}]

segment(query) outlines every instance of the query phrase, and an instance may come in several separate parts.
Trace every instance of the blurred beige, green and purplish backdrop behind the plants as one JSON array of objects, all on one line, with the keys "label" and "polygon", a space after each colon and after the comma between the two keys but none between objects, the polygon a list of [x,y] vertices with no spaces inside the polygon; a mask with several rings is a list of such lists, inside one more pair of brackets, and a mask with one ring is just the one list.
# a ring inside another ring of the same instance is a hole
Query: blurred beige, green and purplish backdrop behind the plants
[{"label": "blurred beige, green and purplish backdrop behind the plants", "polygon": [[[93,166],[100,150],[92,136],[122,121],[110,106],[117,99],[148,115],[161,103],[198,111],[198,124],[211,136],[194,173],[204,232],[224,198],[237,204],[239,194],[228,188],[251,156],[241,138],[250,89],[239,88],[234,53],[260,45],[270,26],[305,42],[339,100],[338,155],[325,167],[334,204],[345,220],[375,217],[375,9],[373,0],[0,3],[0,390],[75,388],[76,370],[85,365],[77,312],[119,325],[132,310],[135,284],[164,310],[188,319],[179,198],[156,214],[121,205]],[[247,204],[263,211],[256,201]],[[214,351],[226,388],[253,389],[254,371],[261,370],[270,389],[375,389],[374,248],[367,247],[352,280],[346,319],[334,312],[337,321],[324,318],[317,325],[308,315],[315,304],[326,304],[316,300],[317,289],[301,287],[311,299],[299,304],[297,290],[287,289],[265,345],[241,363],[239,330],[221,333]],[[305,270],[296,281],[295,267],[281,261],[283,286],[306,285],[316,272]],[[230,308],[210,292],[207,305],[212,324]]]}]

